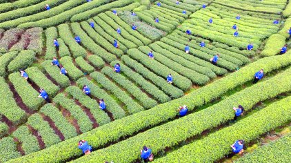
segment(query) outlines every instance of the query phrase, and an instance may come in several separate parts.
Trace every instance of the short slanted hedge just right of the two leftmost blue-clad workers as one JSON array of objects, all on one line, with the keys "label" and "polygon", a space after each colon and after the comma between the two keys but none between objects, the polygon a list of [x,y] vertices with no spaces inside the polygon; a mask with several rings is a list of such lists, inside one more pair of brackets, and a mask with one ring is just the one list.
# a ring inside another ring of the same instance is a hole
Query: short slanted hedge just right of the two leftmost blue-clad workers
[{"label": "short slanted hedge just right of the two leftmost blue-clad workers", "polygon": [[57,95],[59,87],[54,85],[52,81],[50,81],[50,79],[46,78],[46,75],[41,73],[41,70],[39,70],[39,68],[28,68],[26,69],[26,73],[28,73],[28,76],[34,82],[34,84],[37,84],[39,88],[44,88],[46,90],[49,97],[54,97],[55,95]]}]

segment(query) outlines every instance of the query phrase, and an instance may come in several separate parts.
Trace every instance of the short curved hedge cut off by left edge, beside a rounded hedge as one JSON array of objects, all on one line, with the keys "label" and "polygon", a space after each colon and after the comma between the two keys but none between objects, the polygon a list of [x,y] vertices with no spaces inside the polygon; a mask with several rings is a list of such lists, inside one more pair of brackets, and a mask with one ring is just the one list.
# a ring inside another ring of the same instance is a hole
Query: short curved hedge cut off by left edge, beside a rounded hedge
[{"label": "short curved hedge cut off by left edge, beside a rounded hedge", "polygon": [[7,52],[0,57],[0,76],[6,77],[8,75],[7,67],[15,57],[17,57],[18,52]]}]

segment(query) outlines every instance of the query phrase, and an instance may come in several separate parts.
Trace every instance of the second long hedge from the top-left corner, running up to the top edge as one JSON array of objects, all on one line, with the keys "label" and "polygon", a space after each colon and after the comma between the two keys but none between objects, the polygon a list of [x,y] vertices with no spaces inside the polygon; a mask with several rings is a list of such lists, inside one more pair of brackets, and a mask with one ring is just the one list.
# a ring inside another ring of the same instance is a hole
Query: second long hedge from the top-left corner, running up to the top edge
[{"label": "second long hedge from the top-left corner, running up to the top edge", "polygon": [[54,6],[58,6],[60,3],[65,2],[66,0],[47,0],[43,1],[41,3],[37,3],[32,6],[28,6],[26,8],[19,8],[17,10],[11,10],[8,12],[4,12],[0,14],[0,22],[7,21],[7,20],[12,20],[12,19],[17,19],[19,17],[25,17],[27,15],[32,15],[37,12],[42,12],[46,10],[44,6],[46,4],[50,4],[50,8],[53,8]]}]

